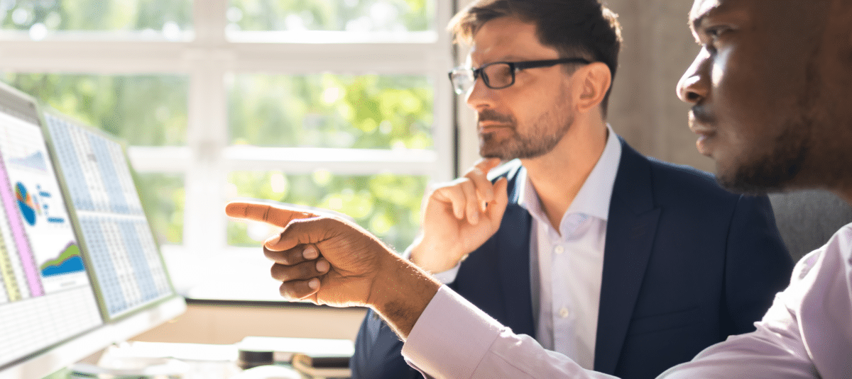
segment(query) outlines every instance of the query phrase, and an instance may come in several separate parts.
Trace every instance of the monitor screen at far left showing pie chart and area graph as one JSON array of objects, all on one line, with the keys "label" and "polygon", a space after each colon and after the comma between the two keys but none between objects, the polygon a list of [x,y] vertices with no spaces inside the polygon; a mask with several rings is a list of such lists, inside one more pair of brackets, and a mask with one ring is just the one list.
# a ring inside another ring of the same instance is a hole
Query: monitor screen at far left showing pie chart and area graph
[{"label": "monitor screen at far left showing pie chart and area graph", "polygon": [[37,107],[0,87],[0,371],[102,323]]}]

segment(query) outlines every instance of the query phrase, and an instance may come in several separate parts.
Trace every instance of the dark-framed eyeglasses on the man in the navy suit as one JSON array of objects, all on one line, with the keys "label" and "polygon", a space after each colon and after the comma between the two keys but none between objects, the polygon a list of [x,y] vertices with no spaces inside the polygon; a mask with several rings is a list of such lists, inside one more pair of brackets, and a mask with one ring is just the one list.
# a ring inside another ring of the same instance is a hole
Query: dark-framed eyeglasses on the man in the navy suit
[{"label": "dark-framed eyeglasses on the man in the navy suit", "polygon": [[476,82],[476,78],[482,76],[482,82],[486,87],[502,89],[515,84],[515,72],[537,67],[550,67],[565,63],[582,63],[588,65],[591,62],[582,58],[562,58],[546,60],[527,60],[523,62],[492,62],[478,69],[470,67],[456,67],[449,72],[452,88],[458,94],[467,93]]}]

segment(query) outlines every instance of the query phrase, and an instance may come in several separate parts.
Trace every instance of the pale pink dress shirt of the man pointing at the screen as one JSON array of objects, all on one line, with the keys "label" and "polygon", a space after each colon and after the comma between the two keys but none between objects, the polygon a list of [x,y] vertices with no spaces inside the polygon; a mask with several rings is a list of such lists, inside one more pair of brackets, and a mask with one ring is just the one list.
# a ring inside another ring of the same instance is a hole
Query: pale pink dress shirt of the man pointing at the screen
[{"label": "pale pink dress shirt of the man pointing at the screen", "polygon": [[[802,258],[757,331],[728,337],[665,379],[852,377],[852,223]],[[533,338],[513,334],[446,286],[423,311],[402,354],[435,378],[612,378]]]}]

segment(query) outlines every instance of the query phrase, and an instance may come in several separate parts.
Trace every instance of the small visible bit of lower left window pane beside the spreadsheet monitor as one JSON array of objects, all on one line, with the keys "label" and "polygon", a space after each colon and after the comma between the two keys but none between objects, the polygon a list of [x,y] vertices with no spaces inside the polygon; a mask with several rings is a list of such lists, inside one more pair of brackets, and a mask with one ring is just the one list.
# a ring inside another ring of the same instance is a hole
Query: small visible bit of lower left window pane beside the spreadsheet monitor
[{"label": "small visible bit of lower left window pane beside the spreadsheet monitor", "polygon": [[180,245],[183,241],[183,209],[186,200],[183,177],[138,173],[135,179],[154,238],[160,245]]}]

